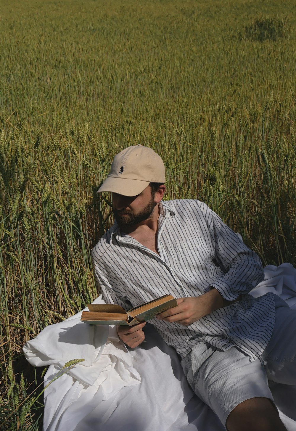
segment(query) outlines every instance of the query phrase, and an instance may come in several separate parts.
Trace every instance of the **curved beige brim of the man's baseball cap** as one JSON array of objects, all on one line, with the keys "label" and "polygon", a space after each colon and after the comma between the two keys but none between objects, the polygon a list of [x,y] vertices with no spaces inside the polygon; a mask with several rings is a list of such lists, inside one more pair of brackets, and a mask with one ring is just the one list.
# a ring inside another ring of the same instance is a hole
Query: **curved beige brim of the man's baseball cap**
[{"label": "curved beige brim of the man's baseball cap", "polygon": [[111,191],[123,196],[137,196],[150,184],[150,181],[129,180],[126,178],[108,177],[103,182],[97,193]]}]

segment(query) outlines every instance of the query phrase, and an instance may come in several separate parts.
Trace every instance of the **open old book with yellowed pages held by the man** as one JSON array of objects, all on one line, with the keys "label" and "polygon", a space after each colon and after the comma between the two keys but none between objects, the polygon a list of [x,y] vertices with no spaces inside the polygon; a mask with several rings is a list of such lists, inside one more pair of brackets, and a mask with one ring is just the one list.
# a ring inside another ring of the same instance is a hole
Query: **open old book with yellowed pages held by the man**
[{"label": "open old book with yellowed pages held by the man", "polygon": [[146,304],[134,307],[128,312],[114,304],[87,304],[90,311],[83,311],[81,322],[90,325],[136,325],[153,319],[157,314],[177,306],[177,300],[167,294]]}]

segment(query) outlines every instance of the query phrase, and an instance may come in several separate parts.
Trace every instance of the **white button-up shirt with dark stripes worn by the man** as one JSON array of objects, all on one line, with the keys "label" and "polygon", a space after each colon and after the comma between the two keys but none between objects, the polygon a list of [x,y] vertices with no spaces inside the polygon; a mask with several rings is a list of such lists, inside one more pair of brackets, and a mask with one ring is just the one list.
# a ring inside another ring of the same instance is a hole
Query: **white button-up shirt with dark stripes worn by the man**
[{"label": "white button-up shirt with dark stripes worn by the man", "polygon": [[152,319],[165,342],[184,357],[197,343],[236,346],[258,358],[274,327],[273,294],[248,292],[264,278],[259,257],[199,200],[160,203],[159,255],[115,224],[92,250],[95,280],[107,303],[128,310],[164,294],[197,297],[215,287],[225,300],[241,299],[188,326]]}]

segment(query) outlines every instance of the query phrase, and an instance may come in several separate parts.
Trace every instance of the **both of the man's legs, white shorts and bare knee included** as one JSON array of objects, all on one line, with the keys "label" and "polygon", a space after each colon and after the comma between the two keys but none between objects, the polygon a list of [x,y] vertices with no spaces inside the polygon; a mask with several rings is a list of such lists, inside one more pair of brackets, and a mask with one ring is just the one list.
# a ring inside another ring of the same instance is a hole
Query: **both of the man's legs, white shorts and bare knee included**
[{"label": "both of the man's legs, white shorts and bare knee included", "polygon": [[229,431],[286,429],[273,404],[268,380],[296,385],[296,310],[279,297],[274,302],[274,331],[261,361],[249,362],[236,348],[221,352],[209,344],[196,345],[193,357],[189,354],[182,360],[193,390]]}]

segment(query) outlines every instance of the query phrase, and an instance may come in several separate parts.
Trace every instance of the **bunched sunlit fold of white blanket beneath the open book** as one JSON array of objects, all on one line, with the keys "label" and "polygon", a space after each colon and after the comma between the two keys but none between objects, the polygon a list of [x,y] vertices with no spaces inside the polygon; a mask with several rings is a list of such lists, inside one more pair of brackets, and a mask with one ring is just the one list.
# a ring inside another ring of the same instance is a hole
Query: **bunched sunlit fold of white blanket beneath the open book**
[{"label": "bunched sunlit fold of white blanket beneath the open book", "polygon": [[[104,303],[102,296],[93,303]],[[64,322],[47,326],[34,340],[28,341],[23,350],[30,364],[54,365],[60,371],[66,362],[84,359],[67,370],[66,374],[88,386],[99,379],[105,397],[113,394],[115,389],[117,391],[125,385],[140,383],[140,376],[132,366],[131,355],[119,340],[116,328],[87,325],[80,319],[81,312]]]}]

